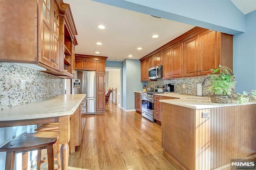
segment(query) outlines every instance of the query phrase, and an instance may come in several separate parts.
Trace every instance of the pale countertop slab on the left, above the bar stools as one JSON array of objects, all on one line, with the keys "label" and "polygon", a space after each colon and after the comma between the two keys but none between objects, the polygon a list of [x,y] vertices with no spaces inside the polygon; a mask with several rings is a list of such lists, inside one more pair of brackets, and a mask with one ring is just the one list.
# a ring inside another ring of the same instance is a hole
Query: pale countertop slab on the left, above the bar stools
[{"label": "pale countertop slab on the left, above the bar stools", "polygon": [[86,94],[60,95],[0,111],[0,121],[72,115]]}]

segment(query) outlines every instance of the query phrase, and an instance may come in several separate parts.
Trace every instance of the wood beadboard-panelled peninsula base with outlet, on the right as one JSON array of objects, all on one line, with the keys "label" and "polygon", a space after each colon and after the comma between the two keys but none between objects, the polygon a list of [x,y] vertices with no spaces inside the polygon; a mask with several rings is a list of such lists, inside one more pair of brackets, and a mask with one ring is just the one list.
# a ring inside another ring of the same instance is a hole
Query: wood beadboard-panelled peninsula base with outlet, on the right
[{"label": "wood beadboard-panelled peninsula base with outlet, on the right", "polygon": [[[175,100],[175,104],[161,100],[162,147],[177,169],[223,169],[231,159],[256,154],[256,102],[211,108],[198,104],[197,109],[196,105],[177,105],[181,99]],[[202,118],[202,112],[209,112],[210,117]]]}]

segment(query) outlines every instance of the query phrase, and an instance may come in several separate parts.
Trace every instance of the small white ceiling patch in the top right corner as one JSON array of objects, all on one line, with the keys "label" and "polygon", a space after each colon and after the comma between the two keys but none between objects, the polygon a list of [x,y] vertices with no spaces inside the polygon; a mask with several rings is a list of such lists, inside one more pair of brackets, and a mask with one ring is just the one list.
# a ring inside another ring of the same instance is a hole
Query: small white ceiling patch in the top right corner
[{"label": "small white ceiling patch in the top right corner", "polygon": [[231,0],[233,4],[245,14],[256,10],[256,0]]}]

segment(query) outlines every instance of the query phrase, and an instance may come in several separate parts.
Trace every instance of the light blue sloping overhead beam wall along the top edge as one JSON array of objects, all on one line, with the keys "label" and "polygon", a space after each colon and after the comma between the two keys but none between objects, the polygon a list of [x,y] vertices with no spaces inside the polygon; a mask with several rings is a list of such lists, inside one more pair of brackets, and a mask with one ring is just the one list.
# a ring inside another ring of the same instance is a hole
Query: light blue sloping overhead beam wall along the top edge
[{"label": "light blue sloping overhead beam wall along the top edge", "polygon": [[244,14],[230,0],[93,0],[231,35],[244,32]]}]

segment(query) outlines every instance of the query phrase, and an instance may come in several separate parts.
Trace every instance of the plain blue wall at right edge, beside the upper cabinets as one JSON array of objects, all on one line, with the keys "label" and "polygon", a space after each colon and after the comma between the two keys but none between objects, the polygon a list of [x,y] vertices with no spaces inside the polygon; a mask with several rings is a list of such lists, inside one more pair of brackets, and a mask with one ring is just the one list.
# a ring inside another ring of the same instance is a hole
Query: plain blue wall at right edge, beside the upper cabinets
[{"label": "plain blue wall at right edge, beside the upper cabinets", "polygon": [[236,92],[256,90],[256,10],[245,15],[245,32],[234,36]]}]

